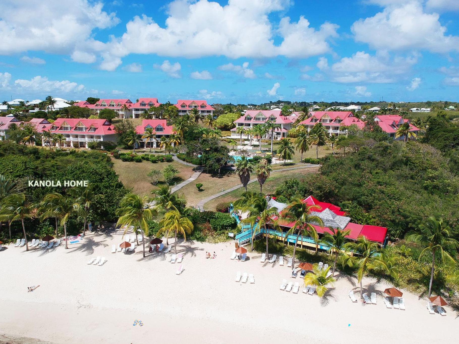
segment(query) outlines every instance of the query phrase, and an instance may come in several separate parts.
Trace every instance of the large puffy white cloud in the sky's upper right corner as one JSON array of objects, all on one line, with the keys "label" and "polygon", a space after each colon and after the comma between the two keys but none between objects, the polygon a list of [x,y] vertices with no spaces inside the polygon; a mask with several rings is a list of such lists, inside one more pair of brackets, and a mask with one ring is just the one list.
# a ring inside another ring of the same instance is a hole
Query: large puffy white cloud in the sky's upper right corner
[{"label": "large puffy white cloud in the sky's upper right corner", "polygon": [[447,35],[438,19],[437,13],[425,13],[419,2],[410,1],[388,6],[374,17],[354,22],[351,31],[356,41],[376,50],[458,51],[459,37]]}]

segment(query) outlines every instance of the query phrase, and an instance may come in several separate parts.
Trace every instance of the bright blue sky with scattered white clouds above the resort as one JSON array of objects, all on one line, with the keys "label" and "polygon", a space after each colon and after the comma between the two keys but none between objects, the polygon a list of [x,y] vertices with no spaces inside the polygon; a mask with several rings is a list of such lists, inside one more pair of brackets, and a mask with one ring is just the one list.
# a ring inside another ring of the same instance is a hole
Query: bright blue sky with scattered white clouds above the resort
[{"label": "bright blue sky with scattered white clouds above the resort", "polygon": [[459,101],[459,0],[1,0],[0,101]]}]

